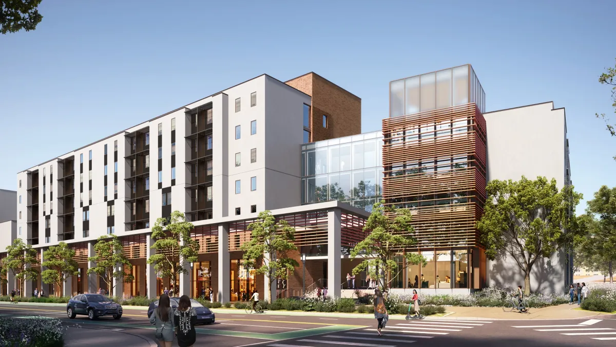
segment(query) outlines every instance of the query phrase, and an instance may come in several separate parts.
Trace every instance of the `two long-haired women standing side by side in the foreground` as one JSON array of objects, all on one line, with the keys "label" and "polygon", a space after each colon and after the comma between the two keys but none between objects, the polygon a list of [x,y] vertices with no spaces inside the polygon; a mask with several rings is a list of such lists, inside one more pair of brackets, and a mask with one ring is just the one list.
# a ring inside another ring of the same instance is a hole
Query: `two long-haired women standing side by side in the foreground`
[{"label": "two long-haired women standing side by side in the foreground", "polygon": [[177,338],[177,345],[190,347],[197,340],[195,323],[197,323],[197,311],[190,305],[190,298],[182,295],[177,309],[171,307],[169,295],[163,294],[158,299],[158,307],[150,316],[150,323],[156,325],[156,340],[160,341],[161,347],[171,347],[173,340]]}]

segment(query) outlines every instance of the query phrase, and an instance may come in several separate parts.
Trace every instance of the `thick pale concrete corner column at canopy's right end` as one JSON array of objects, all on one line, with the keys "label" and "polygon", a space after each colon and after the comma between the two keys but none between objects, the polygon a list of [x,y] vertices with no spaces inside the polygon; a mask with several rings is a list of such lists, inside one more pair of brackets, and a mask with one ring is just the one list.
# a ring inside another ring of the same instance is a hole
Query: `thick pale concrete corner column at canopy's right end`
[{"label": "thick pale concrete corner column at canopy's right end", "polygon": [[340,209],[327,212],[327,296],[340,298]]}]

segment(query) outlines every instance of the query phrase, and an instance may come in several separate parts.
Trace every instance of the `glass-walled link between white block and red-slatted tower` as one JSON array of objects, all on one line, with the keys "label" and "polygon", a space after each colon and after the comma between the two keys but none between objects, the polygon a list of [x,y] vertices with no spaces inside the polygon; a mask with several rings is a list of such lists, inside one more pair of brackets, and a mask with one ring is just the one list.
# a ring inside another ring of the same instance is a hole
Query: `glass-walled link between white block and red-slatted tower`
[{"label": "glass-walled link between white block and red-slatted tower", "polygon": [[381,132],[302,144],[302,204],[339,200],[371,211],[381,198]]}]

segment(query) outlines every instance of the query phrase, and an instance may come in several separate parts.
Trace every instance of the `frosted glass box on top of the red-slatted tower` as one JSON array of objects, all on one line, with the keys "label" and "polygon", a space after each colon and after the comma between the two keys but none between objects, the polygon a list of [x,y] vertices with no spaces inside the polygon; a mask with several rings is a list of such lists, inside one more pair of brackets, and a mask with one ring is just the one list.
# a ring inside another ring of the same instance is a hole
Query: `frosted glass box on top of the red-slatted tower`
[{"label": "frosted glass box on top of the red-slatted tower", "polygon": [[389,117],[471,102],[484,113],[484,88],[470,64],[389,83]]}]

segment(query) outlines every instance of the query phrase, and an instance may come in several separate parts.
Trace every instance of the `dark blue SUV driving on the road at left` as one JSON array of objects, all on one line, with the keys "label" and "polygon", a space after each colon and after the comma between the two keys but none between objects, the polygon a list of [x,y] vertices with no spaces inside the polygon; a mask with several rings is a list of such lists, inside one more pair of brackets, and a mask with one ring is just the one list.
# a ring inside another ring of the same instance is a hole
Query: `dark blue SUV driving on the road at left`
[{"label": "dark blue SUV driving on the road at left", "polygon": [[122,317],[122,306],[100,294],[81,294],[73,296],[67,304],[67,316],[70,319],[78,314],[85,314],[91,320],[101,316]]}]

